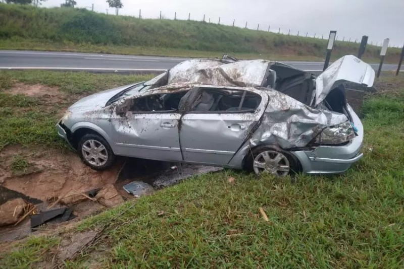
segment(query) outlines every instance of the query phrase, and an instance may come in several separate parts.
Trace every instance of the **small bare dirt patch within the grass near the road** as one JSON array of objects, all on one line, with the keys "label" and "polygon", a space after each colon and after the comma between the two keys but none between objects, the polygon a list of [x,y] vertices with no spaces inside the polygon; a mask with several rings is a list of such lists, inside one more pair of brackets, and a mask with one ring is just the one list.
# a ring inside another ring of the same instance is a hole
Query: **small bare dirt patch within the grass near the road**
[{"label": "small bare dirt patch within the grass near the road", "polygon": [[23,94],[26,96],[60,96],[63,95],[62,92],[59,91],[58,87],[51,87],[42,84],[28,85],[24,83],[16,83],[14,86],[7,90],[6,93],[10,94]]}]

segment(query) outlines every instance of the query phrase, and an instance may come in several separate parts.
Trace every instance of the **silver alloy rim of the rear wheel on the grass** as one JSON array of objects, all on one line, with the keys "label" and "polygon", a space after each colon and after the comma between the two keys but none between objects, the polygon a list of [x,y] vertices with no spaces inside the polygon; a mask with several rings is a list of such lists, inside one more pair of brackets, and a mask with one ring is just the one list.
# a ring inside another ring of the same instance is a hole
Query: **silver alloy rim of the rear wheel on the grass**
[{"label": "silver alloy rim of the rear wheel on the grass", "polygon": [[286,176],[289,173],[290,165],[286,156],[277,151],[264,151],[254,159],[254,172],[271,173],[275,176]]}]

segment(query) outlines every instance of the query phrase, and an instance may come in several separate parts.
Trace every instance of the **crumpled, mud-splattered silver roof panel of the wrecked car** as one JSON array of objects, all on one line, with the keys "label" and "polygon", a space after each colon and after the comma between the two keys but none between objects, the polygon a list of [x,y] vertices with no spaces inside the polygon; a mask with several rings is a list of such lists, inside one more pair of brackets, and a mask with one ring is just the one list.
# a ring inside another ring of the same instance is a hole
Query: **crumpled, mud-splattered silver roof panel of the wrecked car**
[{"label": "crumpled, mud-splattered silver roof panel of the wrecked car", "polygon": [[219,59],[191,59],[169,71],[168,84],[188,83],[220,86],[263,86],[271,61],[243,60],[223,63]]}]

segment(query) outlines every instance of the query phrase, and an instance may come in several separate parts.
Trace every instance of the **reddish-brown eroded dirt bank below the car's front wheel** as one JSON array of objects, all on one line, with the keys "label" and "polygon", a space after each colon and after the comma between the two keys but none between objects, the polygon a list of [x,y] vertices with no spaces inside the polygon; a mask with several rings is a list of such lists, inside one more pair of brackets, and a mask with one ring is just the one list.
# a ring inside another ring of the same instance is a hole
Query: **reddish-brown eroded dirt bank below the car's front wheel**
[{"label": "reddish-brown eroded dirt bank below the car's front wheel", "polygon": [[[12,156],[16,154],[23,156],[39,172],[14,176],[9,167]],[[72,189],[84,192],[115,183],[122,165],[117,162],[111,169],[98,172],[85,166],[75,153],[68,150],[16,146],[0,152],[0,158],[5,160],[0,177],[2,185],[43,201],[63,196]]]}]

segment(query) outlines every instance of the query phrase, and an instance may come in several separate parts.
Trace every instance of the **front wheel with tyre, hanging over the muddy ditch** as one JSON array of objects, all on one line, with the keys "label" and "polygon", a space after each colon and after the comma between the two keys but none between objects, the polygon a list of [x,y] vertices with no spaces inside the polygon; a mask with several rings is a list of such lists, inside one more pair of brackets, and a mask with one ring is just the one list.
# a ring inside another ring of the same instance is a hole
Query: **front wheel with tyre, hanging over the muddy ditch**
[{"label": "front wheel with tyre, hanging over the muddy ditch", "polygon": [[110,145],[98,134],[85,134],[78,144],[77,152],[84,162],[94,170],[104,170],[114,163],[115,155]]}]

